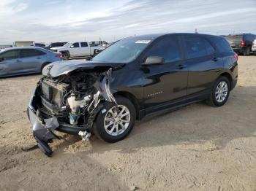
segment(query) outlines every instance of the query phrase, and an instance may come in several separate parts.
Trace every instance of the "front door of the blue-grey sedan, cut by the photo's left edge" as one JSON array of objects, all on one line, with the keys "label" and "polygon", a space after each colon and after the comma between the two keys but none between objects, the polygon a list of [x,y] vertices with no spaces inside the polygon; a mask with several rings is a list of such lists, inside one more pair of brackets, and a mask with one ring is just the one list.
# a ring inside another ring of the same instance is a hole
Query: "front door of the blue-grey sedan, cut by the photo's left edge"
[{"label": "front door of the blue-grey sedan, cut by the photo's left edge", "polygon": [[0,54],[0,76],[9,74],[19,74],[23,72],[23,66],[20,61],[20,52],[16,50],[7,50]]}]

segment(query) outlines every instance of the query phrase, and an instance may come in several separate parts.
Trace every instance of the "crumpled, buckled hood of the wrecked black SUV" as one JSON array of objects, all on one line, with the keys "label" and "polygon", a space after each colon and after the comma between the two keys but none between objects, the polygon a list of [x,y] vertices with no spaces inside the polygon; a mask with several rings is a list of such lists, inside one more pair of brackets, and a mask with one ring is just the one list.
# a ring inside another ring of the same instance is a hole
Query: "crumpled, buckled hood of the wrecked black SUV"
[{"label": "crumpled, buckled hood of the wrecked black SUV", "polygon": [[63,74],[69,74],[71,71],[85,71],[85,70],[94,70],[94,71],[107,71],[110,68],[120,69],[124,66],[124,63],[102,63],[97,61],[58,61],[50,63],[42,70],[42,75],[45,77],[59,77]]}]

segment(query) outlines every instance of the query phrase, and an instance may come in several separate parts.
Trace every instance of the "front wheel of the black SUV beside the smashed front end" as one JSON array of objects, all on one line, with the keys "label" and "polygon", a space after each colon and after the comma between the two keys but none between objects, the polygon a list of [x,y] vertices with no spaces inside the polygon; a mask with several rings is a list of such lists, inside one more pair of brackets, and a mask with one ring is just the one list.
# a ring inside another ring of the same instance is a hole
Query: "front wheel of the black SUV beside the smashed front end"
[{"label": "front wheel of the black SUV beside the smashed front end", "polygon": [[[99,139],[109,143],[121,141],[126,138],[135,125],[136,111],[132,102],[121,96],[116,97],[116,102],[118,104],[117,114],[120,114],[120,111],[124,109],[122,112],[122,114],[126,114],[124,117],[119,118],[117,115],[117,117],[114,118],[113,113],[116,114],[116,112],[114,112],[116,111],[116,106],[113,103],[106,102],[104,109],[99,112],[96,122],[94,123],[94,134]],[[120,123],[123,128],[121,128]]]}]

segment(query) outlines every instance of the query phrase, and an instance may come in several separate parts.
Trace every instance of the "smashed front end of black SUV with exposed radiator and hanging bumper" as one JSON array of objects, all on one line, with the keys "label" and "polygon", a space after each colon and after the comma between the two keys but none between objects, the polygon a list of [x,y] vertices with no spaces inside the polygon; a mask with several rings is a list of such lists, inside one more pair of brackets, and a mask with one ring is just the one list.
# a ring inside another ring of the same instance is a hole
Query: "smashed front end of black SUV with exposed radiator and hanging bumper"
[{"label": "smashed front end of black SUV with exposed radiator and hanging bumper", "polygon": [[45,155],[53,153],[48,143],[61,139],[55,130],[87,140],[105,101],[116,104],[110,91],[112,68],[104,70],[72,71],[39,80],[29,101],[28,116],[34,139]]}]

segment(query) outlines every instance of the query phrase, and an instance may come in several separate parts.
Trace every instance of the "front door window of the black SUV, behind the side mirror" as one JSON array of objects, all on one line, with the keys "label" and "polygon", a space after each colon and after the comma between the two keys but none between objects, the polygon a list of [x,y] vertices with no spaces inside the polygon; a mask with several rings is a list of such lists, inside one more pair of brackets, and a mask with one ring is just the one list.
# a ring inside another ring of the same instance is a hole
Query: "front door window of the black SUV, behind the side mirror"
[{"label": "front door window of the black SUV, behind the side mirror", "polygon": [[159,56],[165,58],[165,63],[181,60],[178,48],[178,39],[174,36],[165,36],[151,47],[146,56]]}]

